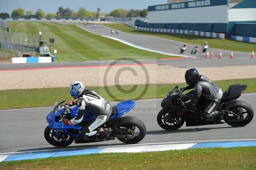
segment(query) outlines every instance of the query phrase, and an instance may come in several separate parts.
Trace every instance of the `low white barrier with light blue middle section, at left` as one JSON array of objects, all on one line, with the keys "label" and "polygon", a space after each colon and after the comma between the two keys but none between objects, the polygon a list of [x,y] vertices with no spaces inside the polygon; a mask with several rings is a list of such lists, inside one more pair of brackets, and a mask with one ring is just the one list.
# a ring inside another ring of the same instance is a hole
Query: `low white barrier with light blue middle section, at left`
[{"label": "low white barrier with light blue middle section, at left", "polygon": [[51,63],[52,57],[12,57],[12,63]]}]

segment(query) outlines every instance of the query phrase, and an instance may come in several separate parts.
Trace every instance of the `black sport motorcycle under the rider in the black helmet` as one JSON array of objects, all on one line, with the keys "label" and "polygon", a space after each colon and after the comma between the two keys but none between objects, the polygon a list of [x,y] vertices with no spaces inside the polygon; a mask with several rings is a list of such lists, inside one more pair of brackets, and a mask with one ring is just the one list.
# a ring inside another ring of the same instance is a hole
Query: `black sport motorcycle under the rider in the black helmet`
[{"label": "black sport motorcycle under the rider in the black helmet", "polygon": [[[230,126],[243,127],[250,123],[253,118],[252,106],[242,100],[236,100],[241,96],[247,85],[232,85],[223,93],[221,104],[217,110],[224,109],[225,114],[223,120]],[[225,122],[211,120],[209,122],[201,120],[201,112],[204,108],[205,101],[191,108],[186,108],[185,102],[189,101],[193,96],[193,90],[187,94],[183,94],[176,85],[164,97],[161,107],[163,109],[157,115],[158,125],[165,130],[179,129],[186,121],[186,126],[201,126],[222,124]]]}]

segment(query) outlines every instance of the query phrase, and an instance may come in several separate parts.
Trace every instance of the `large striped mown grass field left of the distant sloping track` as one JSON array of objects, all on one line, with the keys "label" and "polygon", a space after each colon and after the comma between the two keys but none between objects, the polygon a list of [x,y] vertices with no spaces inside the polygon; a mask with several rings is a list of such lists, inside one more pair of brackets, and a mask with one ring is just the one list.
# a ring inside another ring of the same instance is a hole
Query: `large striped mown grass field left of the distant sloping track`
[{"label": "large striped mown grass field left of the distant sloping track", "polygon": [[[26,39],[28,38],[27,35],[31,34],[30,42],[32,42],[33,35],[38,35],[39,31],[42,31],[43,40],[49,41],[49,38],[54,38],[55,43],[51,47],[51,52],[53,54],[54,49],[58,50],[58,53],[55,54],[57,61],[115,60],[123,57],[135,59],[172,57],[140,50],[124,43],[95,35],[76,25],[63,25],[44,21],[8,21],[8,27],[12,29],[12,33],[22,33],[20,41],[22,41],[24,33]],[[18,38],[16,37],[16,39]]]}]

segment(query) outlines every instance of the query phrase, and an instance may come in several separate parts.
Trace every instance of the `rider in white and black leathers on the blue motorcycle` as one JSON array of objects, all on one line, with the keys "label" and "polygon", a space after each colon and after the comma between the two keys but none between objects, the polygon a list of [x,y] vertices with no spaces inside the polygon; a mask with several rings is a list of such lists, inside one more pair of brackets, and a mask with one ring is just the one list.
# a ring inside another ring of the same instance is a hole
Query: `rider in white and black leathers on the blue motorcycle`
[{"label": "rider in white and black leathers on the blue motorcycle", "polygon": [[[74,81],[69,86],[69,92],[75,101],[69,101],[66,103],[69,106],[77,105],[78,110],[76,117],[71,120],[64,120],[65,125],[74,125],[80,123],[84,118],[85,109],[92,112],[96,119],[91,120],[87,125],[84,125],[80,129],[81,139],[87,139],[89,136],[95,135],[97,133],[97,128],[104,125],[112,112],[111,104],[98,95],[92,89],[86,89],[84,84],[80,81]],[[106,135],[109,135],[112,131],[111,128],[99,128],[98,132],[104,132]]]}]

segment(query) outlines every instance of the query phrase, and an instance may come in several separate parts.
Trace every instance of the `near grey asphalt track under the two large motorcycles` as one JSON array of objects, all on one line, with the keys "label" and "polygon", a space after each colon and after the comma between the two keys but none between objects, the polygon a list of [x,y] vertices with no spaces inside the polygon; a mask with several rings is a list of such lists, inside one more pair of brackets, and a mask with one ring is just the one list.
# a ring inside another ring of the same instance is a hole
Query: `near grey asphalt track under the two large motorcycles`
[{"label": "near grey asphalt track under the two large motorcycles", "polygon": [[[239,98],[247,101],[256,112],[256,93],[244,94]],[[140,118],[147,127],[147,135],[140,142],[162,143],[201,140],[232,140],[256,139],[256,120],[241,128],[230,127],[228,124],[186,127],[178,130],[166,131],[156,122],[156,115],[161,110],[161,99],[136,101],[134,109],[127,115]],[[115,104],[115,103],[113,103]],[[147,110],[148,109],[148,110]],[[51,107],[15,109],[0,111],[0,153],[16,151],[36,151],[61,149],[52,147],[44,139],[44,128],[47,126],[46,115]],[[71,144],[66,148],[102,147],[123,144],[119,140],[112,140],[89,144]]]}]

